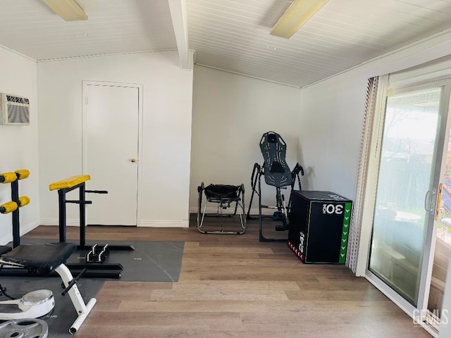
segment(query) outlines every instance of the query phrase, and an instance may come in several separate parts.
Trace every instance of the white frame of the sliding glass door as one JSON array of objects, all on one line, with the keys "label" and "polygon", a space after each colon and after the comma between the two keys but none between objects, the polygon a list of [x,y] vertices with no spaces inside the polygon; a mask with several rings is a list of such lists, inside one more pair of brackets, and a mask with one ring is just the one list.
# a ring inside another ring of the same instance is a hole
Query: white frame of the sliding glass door
[{"label": "white frame of the sliding glass door", "polygon": [[[362,237],[359,247],[359,260],[357,264],[357,274],[363,275],[366,280],[369,280],[377,289],[379,289],[385,296],[388,297],[393,303],[399,306],[405,313],[412,317],[412,320],[416,320],[416,316],[420,315],[424,320],[428,306],[429,289],[431,285],[432,275],[432,263],[435,250],[435,234],[436,234],[436,221],[433,224],[428,225],[426,229],[426,239],[424,245],[424,256],[421,264],[421,276],[420,276],[420,288],[418,303],[416,308],[411,303],[406,301],[402,296],[397,294],[388,284],[385,284],[375,274],[369,270],[369,255],[371,248],[372,237],[372,224],[374,203],[376,201],[376,186],[378,180],[378,170],[380,165],[381,155],[381,142],[383,137],[383,123],[385,120],[385,108],[387,96],[393,94],[399,94],[400,92],[414,91],[415,89],[426,89],[427,87],[440,87],[443,86],[442,100],[439,108],[439,121],[438,121],[438,139],[435,152],[437,158],[440,158],[440,165],[436,165],[433,172],[433,181],[431,182],[431,189],[437,189],[438,184],[443,178],[443,169],[445,162],[443,158],[446,156],[447,149],[447,137],[450,134],[451,127],[451,109],[450,109],[450,96],[451,96],[451,75],[445,75],[441,77],[433,77],[427,80],[424,79],[409,79],[409,82],[402,81],[400,83],[388,82],[388,75],[381,77],[380,91],[378,92],[378,105],[376,107],[376,115],[374,118],[373,135],[371,137],[371,151],[368,163],[368,177],[366,179],[366,191],[364,198],[364,209],[362,212]],[[441,148],[441,149],[440,149]],[[441,151],[441,154],[440,154]],[[435,194],[432,204],[436,206],[437,194]],[[363,271],[362,271],[363,270]],[[419,312],[418,312],[419,311]],[[419,323],[421,327],[437,337],[437,332],[426,325],[423,321]]]}]

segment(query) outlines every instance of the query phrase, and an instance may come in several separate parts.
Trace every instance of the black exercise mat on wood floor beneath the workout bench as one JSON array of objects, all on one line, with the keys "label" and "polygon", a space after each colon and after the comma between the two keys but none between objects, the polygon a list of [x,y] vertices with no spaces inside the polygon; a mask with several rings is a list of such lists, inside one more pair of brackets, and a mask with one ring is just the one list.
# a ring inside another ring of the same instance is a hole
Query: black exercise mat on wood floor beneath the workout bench
[{"label": "black exercise mat on wood floor beneath the workout bench", "polygon": [[[21,243],[50,243],[55,239],[27,239]],[[86,278],[78,282],[78,288],[85,302],[96,296],[105,280],[140,281],[140,282],[176,282],[180,275],[183,256],[183,242],[116,242],[108,241],[111,245],[130,244],[134,251],[110,251],[105,263],[121,263],[124,270],[121,279]],[[100,243],[99,244],[104,244]],[[11,244],[10,244],[11,245]],[[76,251],[68,263],[84,263],[87,251]],[[23,294],[37,289],[50,289],[54,293],[54,312],[42,318],[49,325],[49,338],[70,338],[68,332],[77,314],[68,295],[61,296],[60,277],[6,277],[0,275],[1,284],[11,292],[11,296],[20,298]],[[5,300],[1,297],[0,300]],[[95,305],[94,305],[95,308]],[[1,308],[0,308],[1,311]]]}]

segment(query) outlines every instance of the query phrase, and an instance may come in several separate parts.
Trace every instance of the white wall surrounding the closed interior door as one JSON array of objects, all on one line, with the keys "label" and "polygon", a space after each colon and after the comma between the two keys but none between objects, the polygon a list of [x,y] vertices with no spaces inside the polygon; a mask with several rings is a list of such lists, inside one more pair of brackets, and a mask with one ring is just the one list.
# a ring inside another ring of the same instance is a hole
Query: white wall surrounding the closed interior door
[{"label": "white wall surrounding the closed interior door", "polygon": [[[192,71],[180,69],[177,51],[40,62],[37,70],[42,223],[58,219],[58,194],[49,183],[82,173],[82,80],[92,80],[143,84],[139,222],[187,226]],[[68,206],[68,223],[77,222],[76,211]]]}]

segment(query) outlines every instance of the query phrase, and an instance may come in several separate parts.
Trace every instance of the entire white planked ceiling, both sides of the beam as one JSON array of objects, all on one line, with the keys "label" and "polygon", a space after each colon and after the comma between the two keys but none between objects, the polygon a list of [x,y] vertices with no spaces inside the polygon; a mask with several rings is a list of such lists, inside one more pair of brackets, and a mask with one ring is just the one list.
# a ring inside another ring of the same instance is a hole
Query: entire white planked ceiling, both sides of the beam
[{"label": "entire white planked ceiling, both sides of the beam", "polygon": [[65,22],[40,0],[1,0],[0,44],[37,61],[189,48],[198,65],[303,87],[451,29],[451,0],[330,0],[290,39],[269,35],[289,1],[183,3],[78,0],[88,20]]}]

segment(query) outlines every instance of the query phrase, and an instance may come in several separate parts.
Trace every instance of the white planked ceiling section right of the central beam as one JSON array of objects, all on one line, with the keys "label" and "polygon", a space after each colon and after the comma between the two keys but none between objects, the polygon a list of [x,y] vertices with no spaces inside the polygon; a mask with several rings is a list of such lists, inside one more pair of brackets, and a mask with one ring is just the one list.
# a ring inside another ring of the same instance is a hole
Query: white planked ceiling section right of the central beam
[{"label": "white planked ceiling section right of the central beam", "polygon": [[284,39],[269,31],[288,1],[187,4],[197,64],[296,87],[451,27],[451,1],[330,0]]}]

